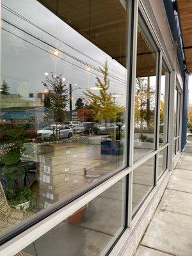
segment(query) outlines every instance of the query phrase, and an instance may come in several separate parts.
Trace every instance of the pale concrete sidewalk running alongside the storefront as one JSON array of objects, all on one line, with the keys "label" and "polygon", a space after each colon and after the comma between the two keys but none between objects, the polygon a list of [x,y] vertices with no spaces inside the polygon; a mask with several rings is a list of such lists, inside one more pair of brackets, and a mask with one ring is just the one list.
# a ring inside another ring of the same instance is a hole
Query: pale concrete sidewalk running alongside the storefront
[{"label": "pale concrete sidewalk running alongside the storefront", "polygon": [[179,160],[135,256],[192,255],[192,153]]}]

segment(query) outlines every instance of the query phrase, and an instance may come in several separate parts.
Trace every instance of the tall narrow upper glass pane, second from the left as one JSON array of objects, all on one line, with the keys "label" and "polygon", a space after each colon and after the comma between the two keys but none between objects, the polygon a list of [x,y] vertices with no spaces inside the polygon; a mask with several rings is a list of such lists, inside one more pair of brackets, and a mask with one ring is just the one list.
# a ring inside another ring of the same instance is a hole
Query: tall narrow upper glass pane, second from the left
[{"label": "tall narrow upper glass pane, second from the left", "polygon": [[138,26],[134,107],[134,161],[155,146],[157,47],[141,17]]}]

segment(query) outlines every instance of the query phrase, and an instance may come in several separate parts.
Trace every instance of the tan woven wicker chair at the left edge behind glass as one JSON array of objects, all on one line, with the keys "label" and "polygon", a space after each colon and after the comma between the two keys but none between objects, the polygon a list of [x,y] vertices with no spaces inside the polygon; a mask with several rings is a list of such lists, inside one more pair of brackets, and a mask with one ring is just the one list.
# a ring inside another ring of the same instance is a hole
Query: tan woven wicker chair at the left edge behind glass
[{"label": "tan woven wicker chair at the left edge behind glass", "polygon": [[31,217],[33,212],[12,209],[4,195],[3,186],[0,182],[0,232]]}]

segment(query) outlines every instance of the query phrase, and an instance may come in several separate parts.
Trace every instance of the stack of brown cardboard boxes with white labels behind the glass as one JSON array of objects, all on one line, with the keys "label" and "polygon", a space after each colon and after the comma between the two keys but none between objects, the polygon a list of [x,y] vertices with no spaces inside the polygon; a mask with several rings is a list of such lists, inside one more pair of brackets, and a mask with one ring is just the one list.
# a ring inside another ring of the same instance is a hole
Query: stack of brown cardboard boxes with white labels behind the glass
[{"label": "stack of brown cardboard boxes with white labels behind the glass", "polygon": [[[86,144],[50,143],[38,148],[38,204],[46,208],[83,188],[86,170],[101,164],[100,159],[87,157]],[[93,157],[94,158],[94,157]]]}]

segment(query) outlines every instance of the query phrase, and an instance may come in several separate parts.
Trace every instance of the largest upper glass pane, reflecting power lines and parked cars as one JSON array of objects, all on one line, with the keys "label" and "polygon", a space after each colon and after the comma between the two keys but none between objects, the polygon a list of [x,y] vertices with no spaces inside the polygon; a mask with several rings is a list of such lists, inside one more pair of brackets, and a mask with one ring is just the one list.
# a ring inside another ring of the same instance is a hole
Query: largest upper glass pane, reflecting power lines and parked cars
[{"label": "largest upper glass pane, reflecting power lines and parked cars", "polygon": [[3,231],[124,168],[129,6],[1,2]]}]

